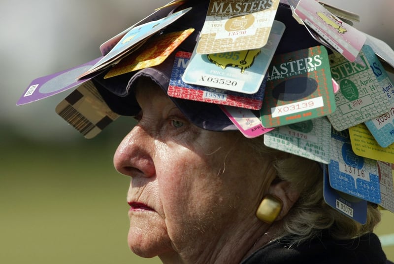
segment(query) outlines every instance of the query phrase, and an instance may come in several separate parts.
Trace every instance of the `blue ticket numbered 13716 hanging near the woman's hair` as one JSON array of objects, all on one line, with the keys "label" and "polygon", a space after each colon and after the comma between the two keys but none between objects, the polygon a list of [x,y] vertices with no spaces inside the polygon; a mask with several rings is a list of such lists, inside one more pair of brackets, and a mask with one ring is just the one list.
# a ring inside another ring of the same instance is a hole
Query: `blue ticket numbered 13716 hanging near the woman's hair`
[{"label": "blue ticket numbered 13716 hanging near the woman's hair", "polygon": [[332,188],[355,197],[380,203],[379,172],[376,160],[356,155],[348,130],[331,131],[331,160],[328,164]]}]

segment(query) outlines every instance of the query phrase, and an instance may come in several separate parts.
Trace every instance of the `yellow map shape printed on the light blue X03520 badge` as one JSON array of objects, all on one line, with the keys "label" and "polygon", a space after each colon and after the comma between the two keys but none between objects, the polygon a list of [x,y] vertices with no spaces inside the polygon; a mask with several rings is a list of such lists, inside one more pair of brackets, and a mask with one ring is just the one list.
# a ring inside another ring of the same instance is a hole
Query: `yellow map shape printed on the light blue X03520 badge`
[{"label": "yellow map shape printed on the light blue X03520 badge", "polygon": [[222,69],[226,67],[236,67],[241,69],[241,73],[245,72],[245,69],[251,67],[255,61],[255,58],[259,56],[261,49],[241,50],[241,51],[230,51],[224,53],[213,53],[208,54],[208,60]]}]

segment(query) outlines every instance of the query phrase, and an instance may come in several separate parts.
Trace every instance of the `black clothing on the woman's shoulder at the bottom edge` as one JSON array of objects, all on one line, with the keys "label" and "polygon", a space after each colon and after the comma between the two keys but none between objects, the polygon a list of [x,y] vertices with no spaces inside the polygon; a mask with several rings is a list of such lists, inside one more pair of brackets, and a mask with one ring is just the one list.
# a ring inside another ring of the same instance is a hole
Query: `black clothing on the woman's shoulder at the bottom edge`
[{"label": "black clothing on the woman's shoulder at the bottom edge", "polygon": [[289,246],[286,239],[272,242],[241,264],[389,264],[379,238],[367,233],[359,238],[333,240],[319,237]]}]

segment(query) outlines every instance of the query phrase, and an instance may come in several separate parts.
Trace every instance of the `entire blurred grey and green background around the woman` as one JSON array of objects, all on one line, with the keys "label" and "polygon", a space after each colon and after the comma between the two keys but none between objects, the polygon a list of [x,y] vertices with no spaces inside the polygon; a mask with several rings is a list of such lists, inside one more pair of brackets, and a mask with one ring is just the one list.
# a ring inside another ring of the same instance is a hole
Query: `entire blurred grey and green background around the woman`
[{"label": "entire blurred grey and green background around the woman", "polygon": [[[129,178],[113,153],[120,118],[85,140],[54,109],[67,92],[15,106],[29,83],[99,57],[99,45],[169,0],[0,0],[0,263],[154,264],[127,246]],[[394,46],[394,1],[327,0]],[[394,214],[376,232],[394,260]],[[389,236],[385,236],[389,235]]]}]

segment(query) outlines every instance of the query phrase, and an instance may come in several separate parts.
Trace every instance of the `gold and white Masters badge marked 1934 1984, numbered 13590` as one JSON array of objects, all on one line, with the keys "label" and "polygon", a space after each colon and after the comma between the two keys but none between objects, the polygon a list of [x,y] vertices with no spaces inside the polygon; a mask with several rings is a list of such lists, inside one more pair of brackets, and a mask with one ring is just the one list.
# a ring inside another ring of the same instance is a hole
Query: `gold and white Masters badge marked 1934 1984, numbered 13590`
[{"label": "gold and white Masters badge marked 1934 1984, numbered 13590", "polygon": [[211,0],[197,54],[261,48],[267,43],[279,0]]}]

